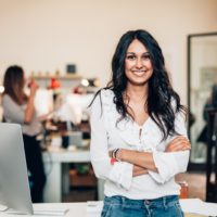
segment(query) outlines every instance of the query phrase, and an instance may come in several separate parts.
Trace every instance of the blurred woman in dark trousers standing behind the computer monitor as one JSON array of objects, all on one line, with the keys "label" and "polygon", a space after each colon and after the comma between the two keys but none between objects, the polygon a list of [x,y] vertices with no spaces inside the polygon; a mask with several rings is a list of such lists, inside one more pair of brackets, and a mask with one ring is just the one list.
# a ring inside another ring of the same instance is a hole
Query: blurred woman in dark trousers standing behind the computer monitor
[{"label": "blurred woman in dark trousers standing behind the computer monitor", "polygon": [[2,98],[3,115],[8,123],[22,125],[24,149],[26,154],[27,168],[33,181],[31,201],[42,202],[46,175],[41,157],[39,141],[36,139],[41,130],[41,124],[36,117],[34,99],[38,85],[34,81],[29,85],[30,93],[27,97],[24,92],[24,71],[20,66],[10,66],[3,79],[4,94]]}]

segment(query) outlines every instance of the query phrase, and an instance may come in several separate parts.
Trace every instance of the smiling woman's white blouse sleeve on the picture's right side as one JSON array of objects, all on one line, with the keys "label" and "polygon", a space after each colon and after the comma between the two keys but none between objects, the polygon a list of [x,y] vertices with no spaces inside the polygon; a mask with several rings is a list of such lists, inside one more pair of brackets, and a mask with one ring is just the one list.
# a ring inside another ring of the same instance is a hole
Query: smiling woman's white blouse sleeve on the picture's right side
[{"label": "smiling woman's white blouse sleeve on the picture's right side", "polygon": [[[184,115],[179,112],[177,113],[175,120],[176,131],[187,137],[186,120]],[[171,141],[174,137],[167,139],[167,144]],[[184,173],[189,163],[190,151],[179,151],[179,152],[153,152],[153,159],[158,173],[149,170],[151,177],[158,183],[165,183],[171,179],[175,175],[179,173]]]}]

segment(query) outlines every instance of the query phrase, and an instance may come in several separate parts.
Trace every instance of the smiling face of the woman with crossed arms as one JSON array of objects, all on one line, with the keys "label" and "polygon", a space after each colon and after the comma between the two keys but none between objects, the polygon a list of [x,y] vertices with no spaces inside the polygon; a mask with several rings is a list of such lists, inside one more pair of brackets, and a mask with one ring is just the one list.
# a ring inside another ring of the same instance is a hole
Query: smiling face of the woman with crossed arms
[{"label": "smiling face of the woman with crossed arms", "polygon": [[135,39],[127,49],[125,74],[128,81],[137,86],[145,85],[153,74],[150,53],[138,39]]}]

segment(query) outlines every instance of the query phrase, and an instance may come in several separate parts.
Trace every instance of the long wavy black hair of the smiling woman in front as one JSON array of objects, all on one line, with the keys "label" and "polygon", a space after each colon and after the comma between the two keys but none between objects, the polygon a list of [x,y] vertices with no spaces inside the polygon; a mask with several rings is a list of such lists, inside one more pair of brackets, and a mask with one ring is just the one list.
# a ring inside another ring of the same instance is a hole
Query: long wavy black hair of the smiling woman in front
[{"label": "long wavy black hair of the smiling woman in front", "polygon": [[[122,118],[131,116],[127,111],[127,104],[123,93],[127,88],[128,79],[125,75],[125,59],[129,44],[139,40],[149,51],[153,66],[153,75],[149,79],[148,114],[163,132],[163,140],[168,136],[177,133],[175,130],[175,117],[177,112],[187,114],[187,108],[180,104],[180,98],[174,91],[168,72],[165,68],[165,61],[162,49],[153,36],[143,29],[129,30],[122,36],[112,59],[112,79],[103,89],[111,89],[114,92],[114,103]],[[101,89],[102,90],[102,89]],[[99,90],[95,97],[100,93]],[[94,99],[93,99],[94,100]],[[132,117],[133,119],[133,117]]]}]

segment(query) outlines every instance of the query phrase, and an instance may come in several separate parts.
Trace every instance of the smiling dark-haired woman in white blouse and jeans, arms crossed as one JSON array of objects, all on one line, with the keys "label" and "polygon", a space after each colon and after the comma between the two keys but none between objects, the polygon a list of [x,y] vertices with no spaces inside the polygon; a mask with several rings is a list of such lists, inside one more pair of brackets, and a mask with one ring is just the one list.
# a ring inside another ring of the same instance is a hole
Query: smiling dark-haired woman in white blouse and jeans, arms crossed
[{"label": "smiling dark-haired woman in white blouse and jeans, arms crossed", "polygon": [[105,180],[102,216],[183,216],[175,175],[187,169],[186,108],[145,30],[127,31],[112,80],[91,105],[91,162]]}]

